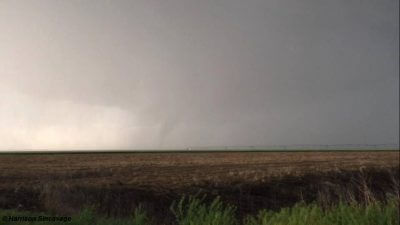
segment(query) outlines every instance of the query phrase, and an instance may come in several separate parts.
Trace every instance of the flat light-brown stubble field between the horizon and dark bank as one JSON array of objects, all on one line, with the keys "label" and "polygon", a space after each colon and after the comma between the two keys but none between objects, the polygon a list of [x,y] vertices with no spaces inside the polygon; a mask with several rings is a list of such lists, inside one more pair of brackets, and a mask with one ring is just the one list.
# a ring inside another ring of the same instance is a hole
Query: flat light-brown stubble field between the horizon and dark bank
[{"label": "flat light-brown stubble field between the horizon and dark bank", "polygon": [[0,189],[62,183],[174,190],[398,165],[399,151],[2,154]]}]

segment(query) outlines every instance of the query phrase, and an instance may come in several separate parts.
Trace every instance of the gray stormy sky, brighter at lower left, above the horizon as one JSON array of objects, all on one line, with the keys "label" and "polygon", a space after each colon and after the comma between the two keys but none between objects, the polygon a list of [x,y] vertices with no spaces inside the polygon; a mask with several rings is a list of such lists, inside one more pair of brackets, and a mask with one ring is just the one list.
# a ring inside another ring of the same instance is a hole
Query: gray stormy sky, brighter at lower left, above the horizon
[{"label": "gray stormy sky, brighter at lower left, above the horizon", "polygon": [[399,143],[398,8],[0,1],[0,149]]}]

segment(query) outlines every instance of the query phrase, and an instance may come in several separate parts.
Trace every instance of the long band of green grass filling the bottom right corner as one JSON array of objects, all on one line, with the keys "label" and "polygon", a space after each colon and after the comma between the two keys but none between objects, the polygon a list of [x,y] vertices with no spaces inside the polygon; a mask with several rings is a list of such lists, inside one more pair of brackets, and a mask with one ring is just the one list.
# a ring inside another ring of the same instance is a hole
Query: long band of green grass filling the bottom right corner
[{"label": "long band of green grass filling the bottom right corner", "polygon": [[339,203],[323,210],[317,204],[300,203],[279,212],[262,210],[246,218],[246,225],[398,225],[399,204],[371,203],[367,206]]}]

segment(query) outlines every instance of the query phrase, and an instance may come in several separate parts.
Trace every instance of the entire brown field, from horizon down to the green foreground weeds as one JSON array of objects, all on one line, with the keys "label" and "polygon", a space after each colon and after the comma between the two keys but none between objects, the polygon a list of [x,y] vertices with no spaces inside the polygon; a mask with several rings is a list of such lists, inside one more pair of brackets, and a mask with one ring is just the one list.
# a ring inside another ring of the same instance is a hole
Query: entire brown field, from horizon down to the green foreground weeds
[{"label": "entire brown field, from horizon down to the green foreground weeds", "polygon": [[221,196],[251,213],[298,201],[399,195],[399,151],[0,154],[0,208],[129,215],[167,221],[182,194]]}]

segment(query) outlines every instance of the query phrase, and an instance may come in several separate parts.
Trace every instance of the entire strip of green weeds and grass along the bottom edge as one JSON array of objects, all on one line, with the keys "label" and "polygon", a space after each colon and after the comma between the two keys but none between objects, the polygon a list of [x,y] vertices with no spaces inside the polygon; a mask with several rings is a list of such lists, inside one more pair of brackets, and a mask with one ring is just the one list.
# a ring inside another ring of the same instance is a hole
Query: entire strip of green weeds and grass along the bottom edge
[{"label": "entire strip of green weeds and grass along the bottom edge", "polygon": [[[399,224],[399,199],[390,197],[386,202],[368,204],[339,202],[331,206],[304,202],[279,211],[261,210],[257,215],[238,219],[236,207],[224,204],[219,197],[206,203],[204,197],[183,197],[174,202],[170,210],[175,216],[174,225],[397,225]],[[101,218],[91,208],[85,208],[70,221],[6,221],[9,217],[39,217],[39,214],[0,210],[1,225],[157,225],[142,207],[136,208],[130,218]],[[43,216],[43,214],[40,214]],[[47,215],[48,216],[48,215]],[[21,219],[20,219],[21,220]]]}]

